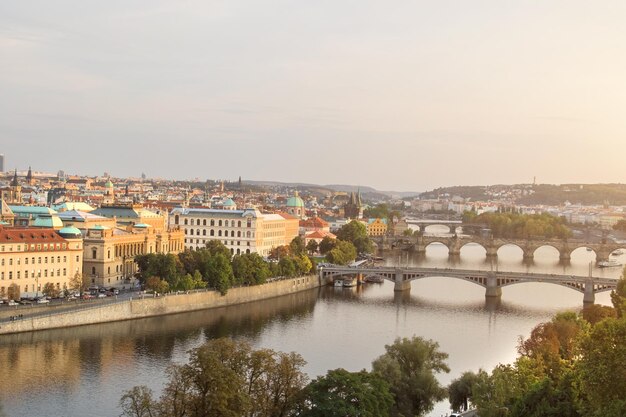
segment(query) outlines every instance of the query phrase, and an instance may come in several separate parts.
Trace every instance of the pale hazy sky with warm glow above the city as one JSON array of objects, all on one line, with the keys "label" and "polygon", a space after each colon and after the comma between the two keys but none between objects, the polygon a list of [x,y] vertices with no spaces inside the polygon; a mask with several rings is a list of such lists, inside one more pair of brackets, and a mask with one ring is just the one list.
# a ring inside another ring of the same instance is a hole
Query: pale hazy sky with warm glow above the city
[{"label": "pale hazy sky with warm glow above the city", "polygon": [[5,169],[626,182],[626,2],[0,0]]}]

